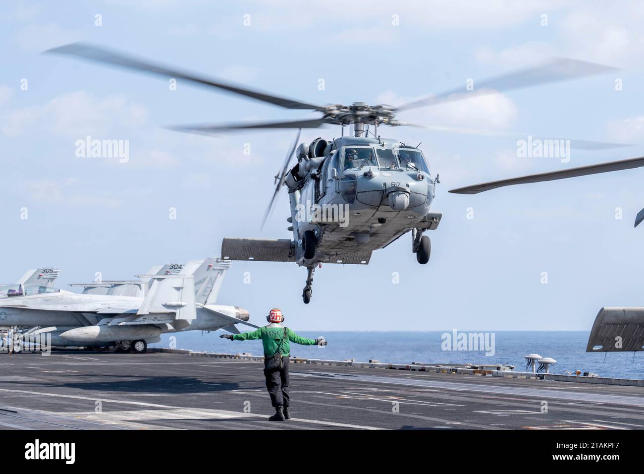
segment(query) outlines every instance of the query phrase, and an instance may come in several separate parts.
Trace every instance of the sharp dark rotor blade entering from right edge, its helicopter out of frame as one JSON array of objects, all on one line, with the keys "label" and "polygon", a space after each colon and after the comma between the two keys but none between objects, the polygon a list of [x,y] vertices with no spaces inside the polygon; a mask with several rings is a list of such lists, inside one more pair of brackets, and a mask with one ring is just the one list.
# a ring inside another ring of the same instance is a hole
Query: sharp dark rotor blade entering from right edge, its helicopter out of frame
[{"label": "sharp dark rotor blade entering from right edge, its helicopter out of frame", "polygon": [[593,175],[597,173],[630,170],[632,168],[639,168],[640,166],[644,166],[644,157],[609,161],[607,163],[589,164],[588,166],[578,166],[577,168],[569,168],[567,170],[538,173],[517,178],[501,179],[499,181],[489,181],[489,183],[473,184],[472,186],[453,189],[450,190],[450,193],[478,194],[480,192],[502,188],[504,186],[512,186],[513,184],[542,183],[544,181],[555,181],[557,179],[574,178],[577,176]]}]

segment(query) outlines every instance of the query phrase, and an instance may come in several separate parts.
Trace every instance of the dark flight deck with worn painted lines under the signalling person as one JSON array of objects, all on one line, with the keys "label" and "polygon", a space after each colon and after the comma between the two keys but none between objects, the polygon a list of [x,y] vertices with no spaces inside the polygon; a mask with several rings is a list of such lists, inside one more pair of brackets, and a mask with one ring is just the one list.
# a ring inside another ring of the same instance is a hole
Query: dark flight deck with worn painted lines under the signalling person
[{"label": "dark flight deck with worn painted lines under the signalling person", "polygon": [[643,386],[292,362],[292,419],[270,422],[252,358],[68,350],[0,366],[5,430],[644,428]]}]

